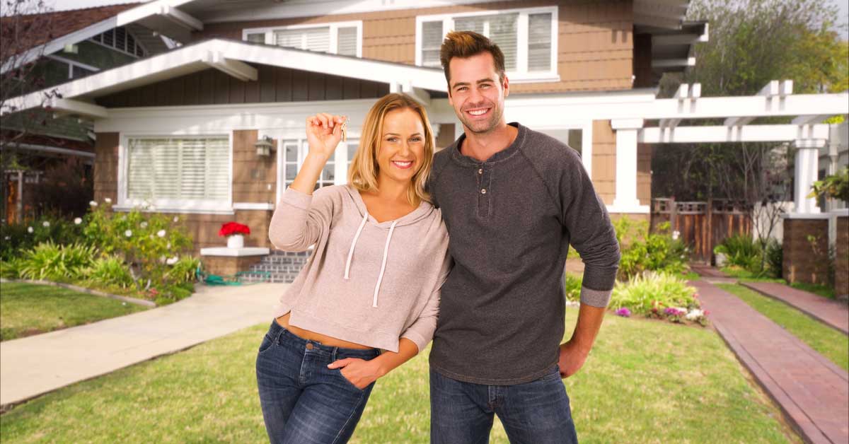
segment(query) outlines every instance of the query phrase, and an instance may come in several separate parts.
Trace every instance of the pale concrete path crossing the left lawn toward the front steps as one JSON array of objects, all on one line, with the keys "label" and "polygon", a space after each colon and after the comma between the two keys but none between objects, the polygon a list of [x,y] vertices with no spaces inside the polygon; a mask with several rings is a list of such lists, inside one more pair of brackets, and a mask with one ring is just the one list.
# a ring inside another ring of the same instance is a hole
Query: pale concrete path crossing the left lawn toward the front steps
[{"label": "pale concrete path crossing the left lawn toward the front steps", "polygon": [[270,323],[273,306],[287,285],[199,285],[194,295],[169,306],[4,341],[0,405]]}]

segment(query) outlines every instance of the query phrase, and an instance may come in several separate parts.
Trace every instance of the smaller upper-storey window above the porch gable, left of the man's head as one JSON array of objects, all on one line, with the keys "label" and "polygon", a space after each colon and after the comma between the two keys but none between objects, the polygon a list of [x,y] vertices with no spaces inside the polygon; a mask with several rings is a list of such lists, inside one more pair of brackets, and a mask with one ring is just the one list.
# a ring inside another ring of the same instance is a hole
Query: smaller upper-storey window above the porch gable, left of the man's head
[{"label": "smaller upper-storey window above the porch gable, left of the man's head", "polygon": [[248,42],[362,57],[363,22],[295,25],[242,31]]}]

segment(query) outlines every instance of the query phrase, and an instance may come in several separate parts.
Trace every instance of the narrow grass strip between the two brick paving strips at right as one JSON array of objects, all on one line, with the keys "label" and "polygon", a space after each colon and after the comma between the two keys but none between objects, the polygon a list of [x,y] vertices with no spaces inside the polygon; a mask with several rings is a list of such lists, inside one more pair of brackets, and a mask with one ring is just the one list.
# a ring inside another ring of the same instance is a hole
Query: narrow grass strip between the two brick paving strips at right
[{"label": "narrow grass strip between the two brick paving strips at right", "polygon": [[784,302],[760,295],[742,285],[717,284],[717,286],[736,295],[812,349],[828,357],[831,362],[849,371],[849,337],[846,334],[810,318]]}]

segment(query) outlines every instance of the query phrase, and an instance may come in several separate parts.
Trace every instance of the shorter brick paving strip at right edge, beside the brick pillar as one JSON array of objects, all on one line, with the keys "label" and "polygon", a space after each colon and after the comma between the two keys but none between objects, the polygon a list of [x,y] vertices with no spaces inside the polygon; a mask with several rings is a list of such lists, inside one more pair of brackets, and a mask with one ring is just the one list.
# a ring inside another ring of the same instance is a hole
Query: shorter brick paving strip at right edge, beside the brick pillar
[{"label": "shorter brick paving strip at right edge, beside the brick pillar", "polygon": [[840,330],[843,334],[849,334],[849,306],[845,303],[832,301],[823,296],[813,295],[807,291],[794,289],[784,284],[774,284],[772,282],[741,282],[740,284],[754,289],[762,295],[767,295],[790,306],[794,306],[811,318]]}]

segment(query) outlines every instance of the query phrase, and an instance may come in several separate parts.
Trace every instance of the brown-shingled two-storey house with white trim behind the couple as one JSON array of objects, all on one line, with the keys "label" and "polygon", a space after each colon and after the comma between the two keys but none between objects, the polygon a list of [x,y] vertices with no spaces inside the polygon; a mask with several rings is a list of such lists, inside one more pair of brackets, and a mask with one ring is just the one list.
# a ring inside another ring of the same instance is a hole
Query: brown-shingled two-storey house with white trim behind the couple
[{"label": "brown-shingled two-storey house with white trim behind the couple", "polygon": [[[346,182],[359,122],[385,93],[417,98],[437,147],[447,146],[463,131],[438,62],[450,30],[480,31],[503,48],[508,121],[580,151],[613,216],[649,217],[649,143],[796,140],[801,126],[750,128],[739,119],[845,112],[841,94],[791,97],[791,84],[778,81],[767,95],[730,106],[700,98],[697,84],[656,98],[660,76],[694,65],[692,46],[708,38],[706,23],[683,21],[687,8],[665,0],[156,0],[117,14],[115,23],[156,29],[179,45],[65,83],[50,106],[93,120],[96,200],[110,198],[115,211],[147,200],[155,211],[183,215],[208,267],[272,270],[285,280],[305,256],[271,250],[267,227],[306,155],[306,115],[351,121],[320,186]],[[764,105],[779,95],[782,106]],[[30,109],[42,97],[16,104]],[[738,121],[678,126],[717,116]],[[644,128],[649,121],[661,125]],[[822,132],[806,128],[812,138]],[[273,149],[258,148],[260,141]],[[217,231],[228,221],[250,226],[245,248],[219,248]]]}]

